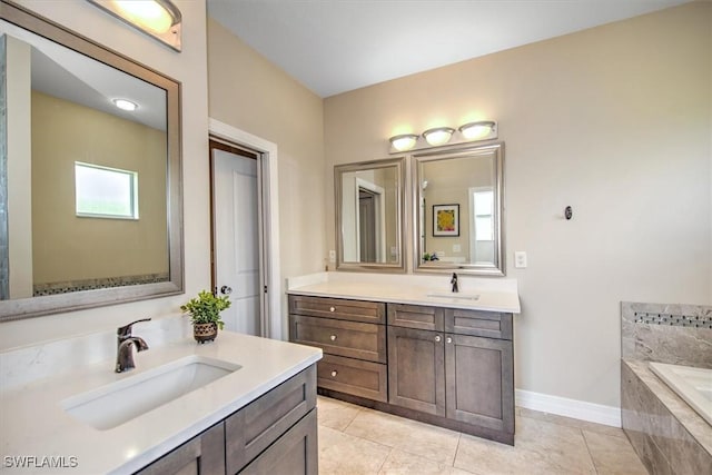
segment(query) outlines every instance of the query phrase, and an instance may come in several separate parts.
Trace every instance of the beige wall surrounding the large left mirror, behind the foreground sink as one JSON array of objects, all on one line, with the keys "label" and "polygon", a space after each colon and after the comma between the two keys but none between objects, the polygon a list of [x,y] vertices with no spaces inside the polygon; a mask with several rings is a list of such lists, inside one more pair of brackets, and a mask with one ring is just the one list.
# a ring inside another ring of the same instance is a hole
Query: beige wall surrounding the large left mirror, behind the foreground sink
[{"label": "beige wall surrounding the large left mirror, behind the foreground sink", "polygon": [[[181,82],[185,288],[210,286],[206,7],[176,0],[182,12],[178,53],[117,21],[89,2],[20,0],[19,3]],[[116,329],[140,317],[180,314],[186,295],[0,324],[0,350],[91,331]]]}]

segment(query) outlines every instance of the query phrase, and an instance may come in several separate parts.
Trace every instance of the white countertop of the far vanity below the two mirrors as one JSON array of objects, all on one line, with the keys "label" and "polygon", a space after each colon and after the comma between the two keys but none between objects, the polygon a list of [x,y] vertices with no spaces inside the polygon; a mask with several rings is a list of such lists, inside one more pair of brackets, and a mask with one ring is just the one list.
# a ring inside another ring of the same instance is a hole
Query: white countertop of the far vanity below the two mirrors
[{"label": "white countertop of the far vanity below the two mirrors", "polygon": [[[288,293],[317,297],[429,305],[471,310],[521,313],[516,281],[459,277],[461,291],[452,294],[449,277],[413,275],[320,273],[289,279]],[[428,296],[432,294],[443,297]],[[477,295],[476,300],[458,297]]]}]

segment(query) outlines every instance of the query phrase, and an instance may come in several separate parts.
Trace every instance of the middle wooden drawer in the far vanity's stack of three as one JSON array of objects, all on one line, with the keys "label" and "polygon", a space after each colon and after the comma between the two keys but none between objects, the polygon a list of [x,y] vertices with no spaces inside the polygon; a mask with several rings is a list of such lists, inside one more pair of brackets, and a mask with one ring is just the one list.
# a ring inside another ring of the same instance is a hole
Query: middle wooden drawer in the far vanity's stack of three
[{"label": "middle wooden drawer in the far vanity's stack of three", "polygon": [[332,355],[386,363],[384,325],[301,315],[291,315],[289,320],[293,342],[318,346]]}]

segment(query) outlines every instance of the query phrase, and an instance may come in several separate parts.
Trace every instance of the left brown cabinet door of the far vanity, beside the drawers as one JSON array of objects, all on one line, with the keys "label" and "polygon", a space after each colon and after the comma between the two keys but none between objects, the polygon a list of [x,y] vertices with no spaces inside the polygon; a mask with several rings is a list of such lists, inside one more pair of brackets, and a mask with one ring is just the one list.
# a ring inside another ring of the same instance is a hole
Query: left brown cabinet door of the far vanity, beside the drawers
[{"label": "left brown cabinet door of the far vanity, beside the drawers", "polygon": [[388,402],[445,415],[443,334],[388,327]]}]

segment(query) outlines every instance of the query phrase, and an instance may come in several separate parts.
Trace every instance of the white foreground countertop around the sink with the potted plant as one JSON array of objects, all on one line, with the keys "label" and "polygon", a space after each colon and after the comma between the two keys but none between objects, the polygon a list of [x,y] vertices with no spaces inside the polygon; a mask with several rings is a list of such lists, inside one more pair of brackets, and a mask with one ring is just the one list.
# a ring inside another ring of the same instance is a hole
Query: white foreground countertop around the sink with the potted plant
[{"label": "white foreground countertop around the sink with the potted plant", "polygon": [[[60,406],[67,397],[190,355],[221,359],[241,368],[107,431],[75,419]],[[136,369],[128,373],[113,373],[111,359],[4,390],[0,393],[0,472],[132,473],[320,357],[319,348],[220,331],[209,344],[198,345],[190,338],[136,354]],[[34,464],[40,464],[42,457],[63,457],[66,464],[76,461],[76,468],[8,466],[7,457],[23,456],[37,457]]]}]

